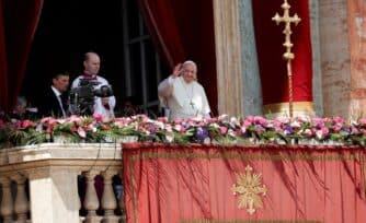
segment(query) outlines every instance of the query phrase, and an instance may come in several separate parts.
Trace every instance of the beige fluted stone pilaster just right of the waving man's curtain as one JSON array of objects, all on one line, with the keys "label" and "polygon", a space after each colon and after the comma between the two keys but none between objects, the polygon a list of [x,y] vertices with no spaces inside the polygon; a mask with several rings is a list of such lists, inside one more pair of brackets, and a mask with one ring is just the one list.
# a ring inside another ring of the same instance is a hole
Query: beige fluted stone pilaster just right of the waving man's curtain
[{"label": "beige fluted stone pilaster just right of the waving man's curtain", "polygon": [[214,0],[219,115],[244,115],[238,0]]}]

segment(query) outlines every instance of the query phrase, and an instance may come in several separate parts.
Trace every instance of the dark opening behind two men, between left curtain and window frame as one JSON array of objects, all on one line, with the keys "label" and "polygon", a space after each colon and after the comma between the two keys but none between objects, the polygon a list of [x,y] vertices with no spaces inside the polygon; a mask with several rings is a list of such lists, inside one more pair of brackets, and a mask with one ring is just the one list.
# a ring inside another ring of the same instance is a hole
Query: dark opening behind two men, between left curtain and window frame
[{"label": "dark opening behind two men, between left curtain and window frame", "polygon": [[101,56],[101,72],[113,85],[117,102],[124,92],[122,0],[45,1],[33,42],[22,94],[34,104],[50,85],[50,77],[68,71],[72,81],[82,71],[83,54]]}]

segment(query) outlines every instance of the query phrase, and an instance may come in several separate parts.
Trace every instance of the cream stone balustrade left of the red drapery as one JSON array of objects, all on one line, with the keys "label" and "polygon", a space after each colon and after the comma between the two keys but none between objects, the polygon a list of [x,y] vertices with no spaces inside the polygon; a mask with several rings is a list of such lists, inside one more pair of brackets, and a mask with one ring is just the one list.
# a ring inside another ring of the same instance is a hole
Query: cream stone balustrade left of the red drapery
[{"label": "cream stone balustrade left of the red drapery", "polygon": [[114,143],[0,150],[0,222],[125,222],[121,155]]}]

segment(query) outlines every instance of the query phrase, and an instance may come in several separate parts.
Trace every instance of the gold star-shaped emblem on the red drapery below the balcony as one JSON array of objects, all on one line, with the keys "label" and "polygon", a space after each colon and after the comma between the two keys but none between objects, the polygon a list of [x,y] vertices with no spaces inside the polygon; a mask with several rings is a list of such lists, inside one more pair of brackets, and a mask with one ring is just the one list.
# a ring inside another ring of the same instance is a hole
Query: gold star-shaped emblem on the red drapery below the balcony
[{"label": "gold star-shaped emblem on the red drapery below the balcony", "polygon": [[237,184],[233,184],[231,191],[239,195],[238,208],[247,208],[249,214],[253,214],[255,209],[262,208],[262,196],[267,189],[262,185],[262,174],[253,174],[253,168],[248,165],[245,173],[238,173]]}]

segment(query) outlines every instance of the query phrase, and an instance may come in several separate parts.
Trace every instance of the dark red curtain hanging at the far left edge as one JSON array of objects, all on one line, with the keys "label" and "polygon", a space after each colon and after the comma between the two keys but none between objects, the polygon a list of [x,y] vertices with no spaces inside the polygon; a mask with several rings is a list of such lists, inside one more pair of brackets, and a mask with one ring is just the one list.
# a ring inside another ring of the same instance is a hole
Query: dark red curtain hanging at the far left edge
[{"label": "dark red curtain hanging at the far left edge", "polygon": [[25,74],[43,0],[0,0],[0,108],[10,111]]}]

